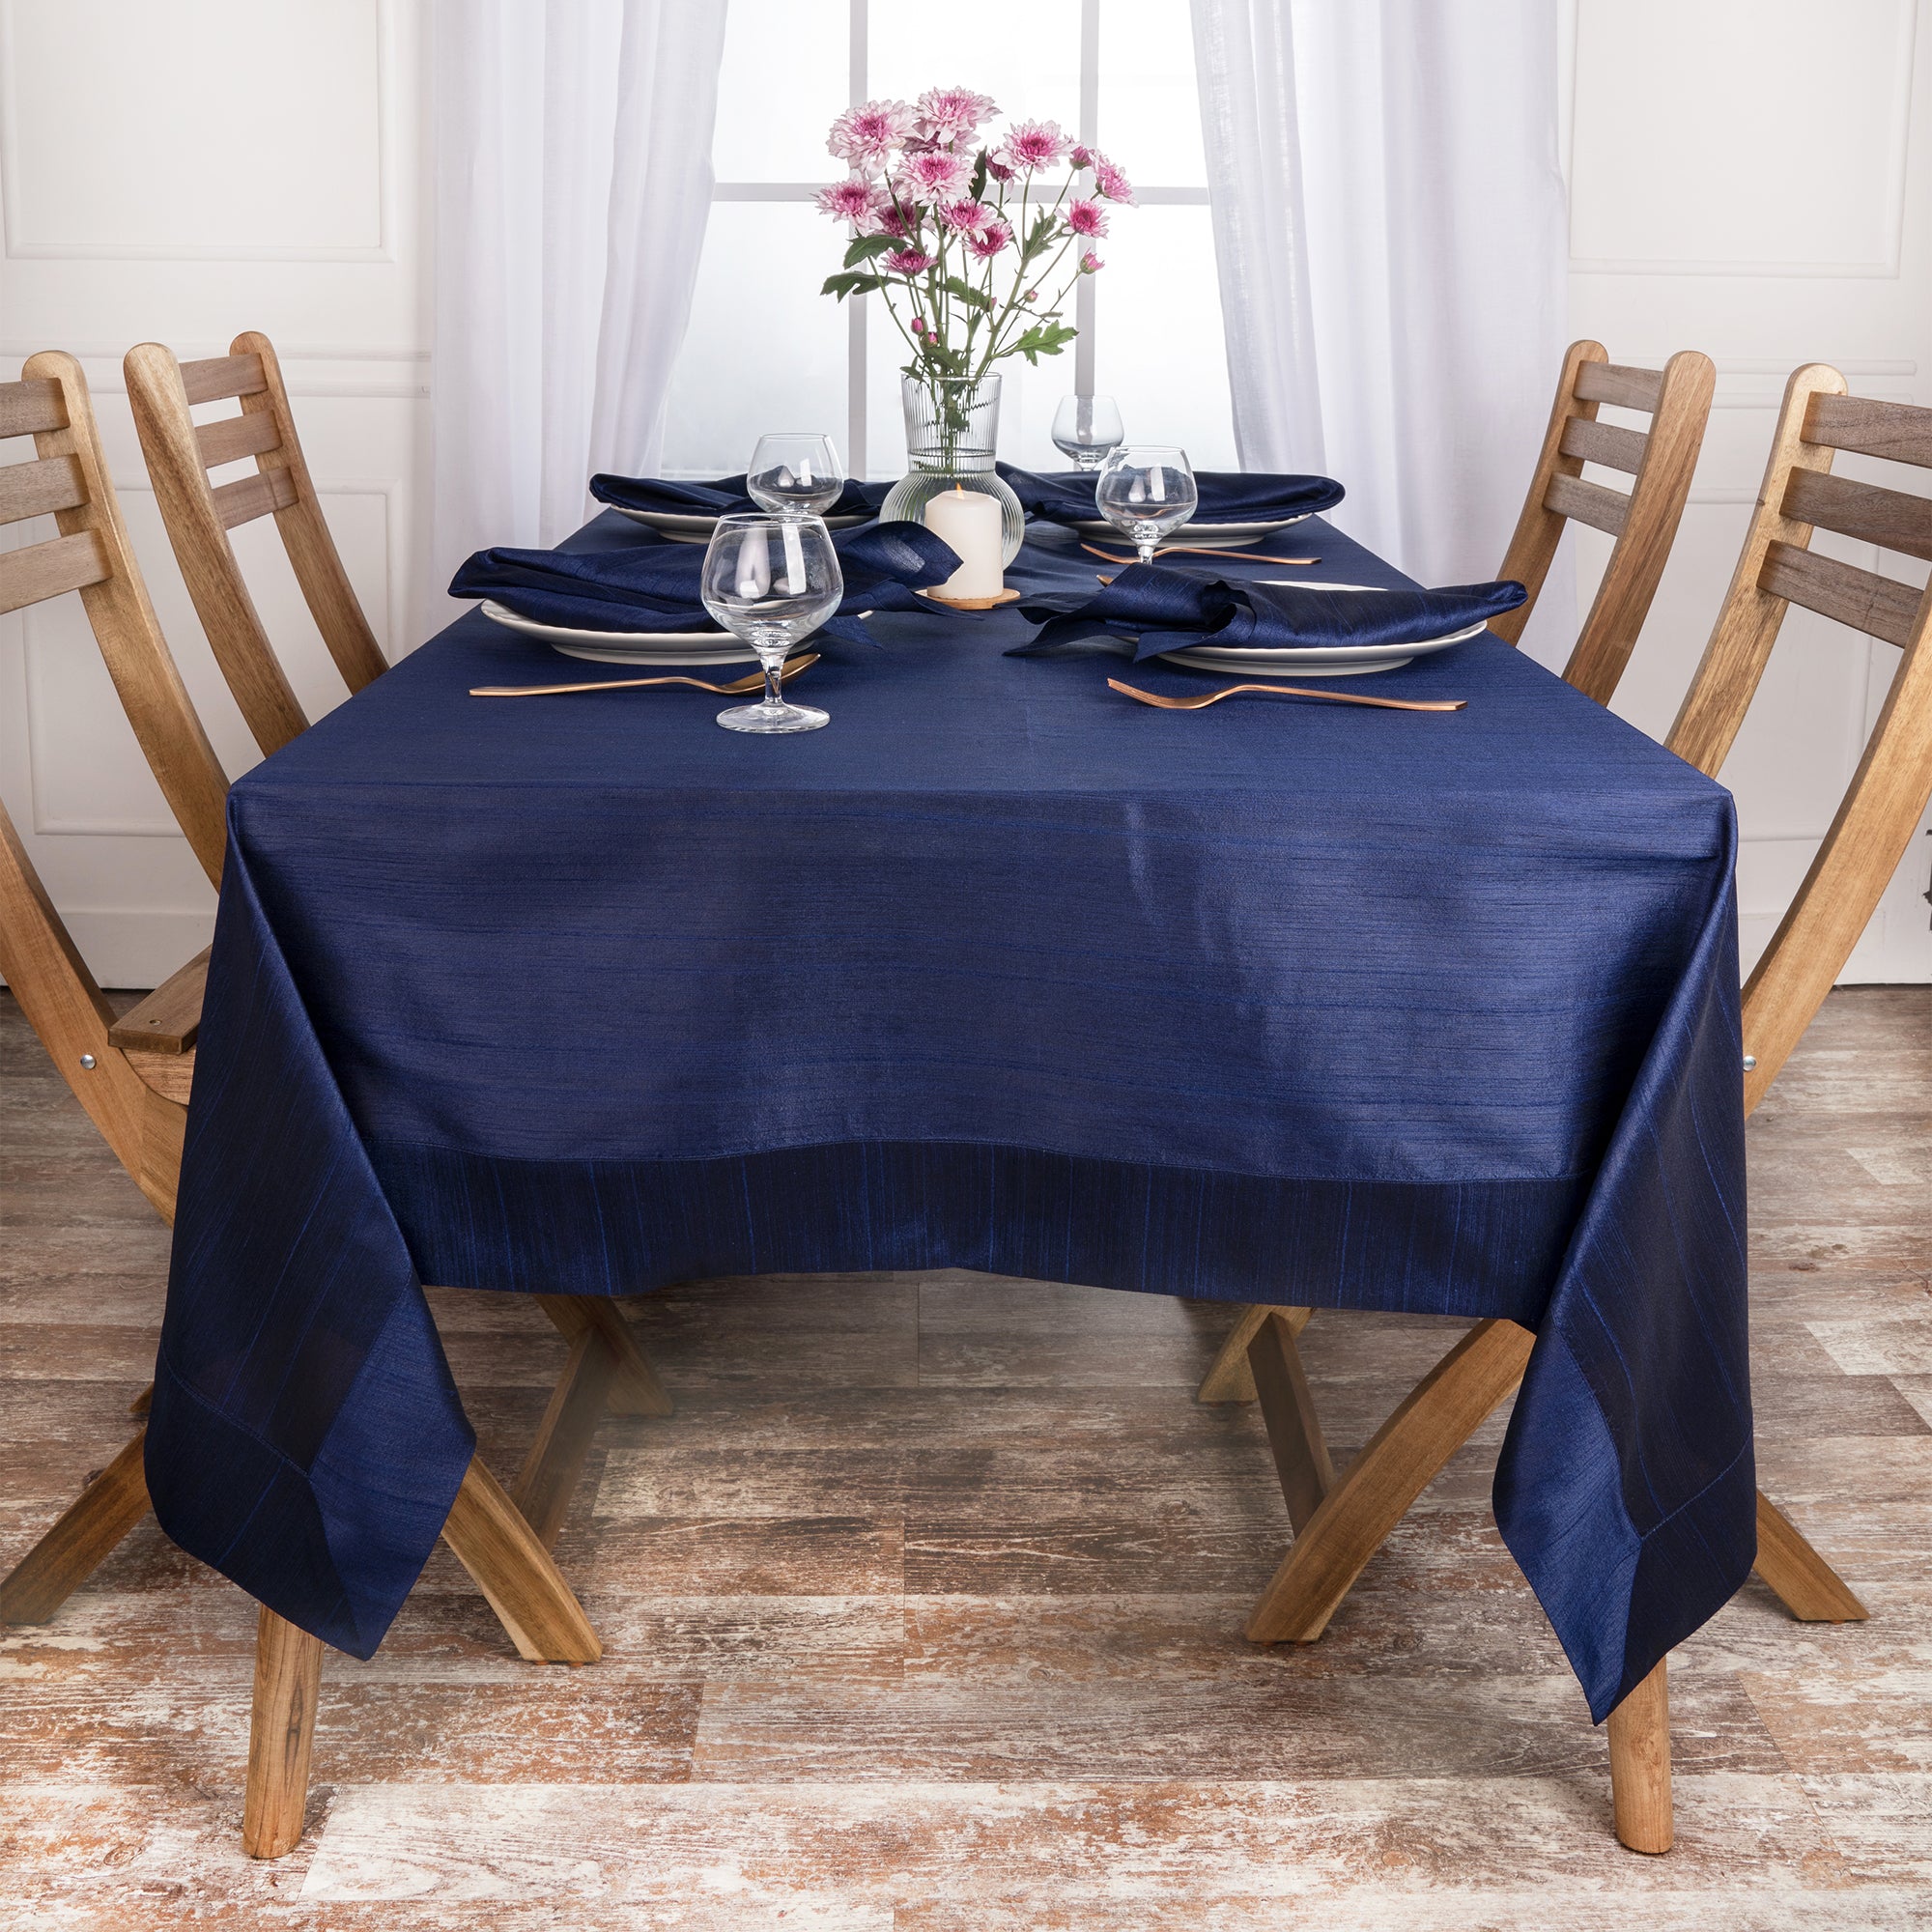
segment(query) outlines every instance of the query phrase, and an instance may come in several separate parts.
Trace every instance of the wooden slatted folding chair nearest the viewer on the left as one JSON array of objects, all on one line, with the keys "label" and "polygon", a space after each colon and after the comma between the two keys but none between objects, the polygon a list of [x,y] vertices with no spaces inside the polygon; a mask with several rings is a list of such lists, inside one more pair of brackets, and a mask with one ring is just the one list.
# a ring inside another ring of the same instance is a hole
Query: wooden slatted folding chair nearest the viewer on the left
[{"label": "wooden slatted folding chair nearest the viewer on the left", "polygon": [[[128,543],[87,384],[70,355],[41,354],[0,384],[0,439],[33,435],[37,460],[0,468],[0,522],[52,512],[60,535],[0,556],[0,612],[77,589],[162,792],[209,879],[224,856],[228,781],[182,684]],[[207,954],[118,1022],[12,821],[0,810],[0,974],[54,1065],[143,1194],[172,1223]],[[570,1492],[605,1408],[667,1414],[668,1397],[607,1302],[537,1296],[570,1337],[514,1495],[471,1461],[442,1536],[518,1652],[589,1663],[597,1636],[551,1561]],[[145,1397],[135,1403],[145,1408]],[[44,1623],[147,1513],[143,1434],[0,1582],[0,1619]],[[301,1835],[323,1646],[263,1609],[243,1839],[278,1857]]]}]

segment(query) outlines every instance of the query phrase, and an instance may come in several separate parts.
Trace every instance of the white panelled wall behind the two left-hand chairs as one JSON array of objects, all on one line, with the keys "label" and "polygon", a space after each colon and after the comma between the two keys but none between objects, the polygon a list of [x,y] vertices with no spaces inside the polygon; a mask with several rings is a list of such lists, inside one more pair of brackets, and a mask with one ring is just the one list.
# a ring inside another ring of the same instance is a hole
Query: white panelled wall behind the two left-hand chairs
[{"label": "white panelled wall behind the two left-hand chairs", "polygon": [[[369,622],[392,657],[413,641],[423,27],[419,0],[0,0],[0,375],[41,348],[81,357],[156,612],[230,775],[257,753],[168,549],[120,357],[141,340],[216,355],[265,330]],[[50,527],[17,526],[0,547]],[[234,539],[321,715],[342,682],[280,539],[267,522]],[[0,616],[0,796],[102,983],[153,985],[207,943],[213,893],[77,597]]]}]

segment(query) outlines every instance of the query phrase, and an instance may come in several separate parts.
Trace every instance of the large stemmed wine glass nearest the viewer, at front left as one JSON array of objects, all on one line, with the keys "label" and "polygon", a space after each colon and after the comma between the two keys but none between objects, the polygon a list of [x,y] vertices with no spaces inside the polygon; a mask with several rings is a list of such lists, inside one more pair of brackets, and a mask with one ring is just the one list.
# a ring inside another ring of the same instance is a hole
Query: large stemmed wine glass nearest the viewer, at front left
[{"label": "large stemmed wine glass nearest the viewer, at front left", "polygon": [[819,628],[844,597],[844,574],[831,531],[815,516],[769,516],[744,510],[721,516],[705,549],[699,580],[703,607],[734,638],[744,638],[765,667],[765,696],[755,705],[719,713],[726,730],[817,730],[827,723],[813,705],[786,703],[781,688],[784,653]]}]

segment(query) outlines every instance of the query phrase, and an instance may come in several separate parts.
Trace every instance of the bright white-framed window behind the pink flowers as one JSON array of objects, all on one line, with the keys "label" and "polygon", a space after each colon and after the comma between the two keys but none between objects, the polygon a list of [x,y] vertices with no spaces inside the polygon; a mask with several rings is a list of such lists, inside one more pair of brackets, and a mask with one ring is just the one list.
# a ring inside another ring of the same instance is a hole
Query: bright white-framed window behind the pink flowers
[{"label": "bright white-framed window behind the pink flowers", "polygon": [[854,475],[904,469],[898,334],[877,296],[819,284],[844,228],[811,207],[840,174],[825,129],[856,100],[962,83],[1010,118],[1059,120],[1126,168],[1105,270],[1082,280],[1080,340],[1037,369],[1001,363],[1001,456],[1059,468],[1059,398],[1117,396],[1130,437],[1233,469],[1235,433],[1208,220],[1194,41],[1179,0],[730,0],[719,77],[717,187],[692,325],[672,377],[670,475],[742,469],[767,429],[825,429]]}]

